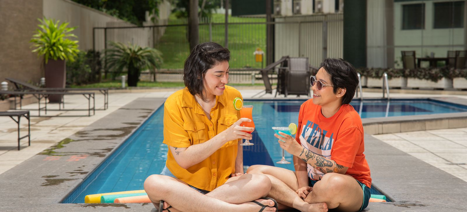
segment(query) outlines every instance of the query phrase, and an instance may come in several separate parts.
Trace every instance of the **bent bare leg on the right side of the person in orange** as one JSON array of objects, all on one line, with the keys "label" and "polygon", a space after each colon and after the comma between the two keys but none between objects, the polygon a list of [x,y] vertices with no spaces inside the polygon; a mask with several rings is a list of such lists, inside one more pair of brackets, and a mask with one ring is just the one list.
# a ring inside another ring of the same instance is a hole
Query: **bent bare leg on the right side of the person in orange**
[{"label": "bent bare leg on the right side of the person in orange", "polygon": [[349,175],[327,173],[304,200],[309,203],[326,202],[330,209],[357,212],[363,204],[363,190]]}]

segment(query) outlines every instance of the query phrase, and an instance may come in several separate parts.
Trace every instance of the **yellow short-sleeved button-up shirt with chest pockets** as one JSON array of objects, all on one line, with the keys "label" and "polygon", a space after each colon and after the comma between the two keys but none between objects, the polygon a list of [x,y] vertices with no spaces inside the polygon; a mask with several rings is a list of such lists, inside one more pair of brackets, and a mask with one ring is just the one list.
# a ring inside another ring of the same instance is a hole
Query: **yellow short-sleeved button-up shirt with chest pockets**
[{"label": "yellow short-sleeved button-up shirt with chest pockets", "polygon": [[[216,96],[216,105],[209,113],[209,120],[187,88],[173,93],[164,103],[163,143],[178,148],[189,147],[206,142],[226,130],[240,118],[239,110],[233,107],[233,99],[236,97],[242,98],[240,92],[226,85],[224,94]],[[223,185],[235,172],[239,140],[227,142],[205,160],[188,169],[177,164],[169,148],[167,168],[188,185],[212,191]]]}]

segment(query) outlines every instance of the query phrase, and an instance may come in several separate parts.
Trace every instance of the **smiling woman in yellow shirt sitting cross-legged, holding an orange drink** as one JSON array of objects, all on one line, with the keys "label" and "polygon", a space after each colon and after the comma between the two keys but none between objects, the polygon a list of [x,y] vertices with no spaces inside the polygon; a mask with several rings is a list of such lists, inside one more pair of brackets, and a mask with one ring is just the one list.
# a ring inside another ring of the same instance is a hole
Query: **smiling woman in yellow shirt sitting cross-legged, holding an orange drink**
[{"label": "smiling woman in yellow shirt sitting cross-legged, holding an orange drink", "polygon": [[[243,173],[241,127],[233,99],[241,94],[227,86],[230,52],[217,43],[193,48],[184,63],[185,88],[164,103],[164,140],[169,146],[160,175],[144,189],[159,211],[276,211],[276,200],[264,198],[271,181]],[[254,201],[255,200],[255,201]],[[193,208],[196,208],[193,209]]]}]

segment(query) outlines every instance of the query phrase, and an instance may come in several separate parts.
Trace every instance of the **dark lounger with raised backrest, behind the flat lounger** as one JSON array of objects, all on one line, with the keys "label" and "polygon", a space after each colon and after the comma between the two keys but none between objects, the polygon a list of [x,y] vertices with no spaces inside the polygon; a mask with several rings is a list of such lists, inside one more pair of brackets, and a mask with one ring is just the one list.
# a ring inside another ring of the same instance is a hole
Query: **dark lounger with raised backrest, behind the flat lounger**
[{"label": "dark lounger with raised backrest, behind the flat lounger", "polygon": [[[68,91],[90,91],[90,90],[99,90],[101,94],[104,95],[104,109],[109,107],[109,89],[107,88],[87,88],[87,89],[78,89],[78,88],[39,88],[37,86],[31,85],[28,82],[23,82],[21,80],[13,78],[5,78],[6,80],[13,82],[16,90],[35,90],[35,91],[50,91],[50,92],[68,92]],[[63,107],[65,107],[64,97],[62,96]]]}]

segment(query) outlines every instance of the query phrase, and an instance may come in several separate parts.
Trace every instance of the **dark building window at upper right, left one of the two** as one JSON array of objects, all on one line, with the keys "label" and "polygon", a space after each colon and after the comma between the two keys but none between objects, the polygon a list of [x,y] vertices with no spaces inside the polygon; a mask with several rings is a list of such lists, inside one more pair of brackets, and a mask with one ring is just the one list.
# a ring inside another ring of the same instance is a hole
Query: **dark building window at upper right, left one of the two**
[{"label": "dark building window at upper right, left one of the two", "polygon": [[425,29],[425,4],[402,6],[402,29]]}]

